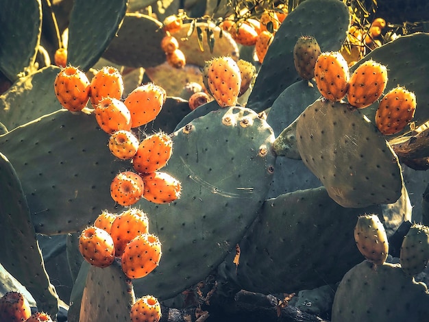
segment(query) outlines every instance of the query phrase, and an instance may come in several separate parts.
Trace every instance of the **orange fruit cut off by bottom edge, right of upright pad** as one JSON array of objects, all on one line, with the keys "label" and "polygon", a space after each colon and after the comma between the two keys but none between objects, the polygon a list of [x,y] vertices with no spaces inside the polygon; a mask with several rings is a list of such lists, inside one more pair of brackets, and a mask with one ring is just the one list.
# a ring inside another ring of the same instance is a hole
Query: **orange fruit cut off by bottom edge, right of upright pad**
[{"label": "orange fruit cut off by bottom edge, right of upright pad", "polygon": [[161,319],[161,305],[156,297],[140,297],[131,307],[132,322],[158,322]]}]

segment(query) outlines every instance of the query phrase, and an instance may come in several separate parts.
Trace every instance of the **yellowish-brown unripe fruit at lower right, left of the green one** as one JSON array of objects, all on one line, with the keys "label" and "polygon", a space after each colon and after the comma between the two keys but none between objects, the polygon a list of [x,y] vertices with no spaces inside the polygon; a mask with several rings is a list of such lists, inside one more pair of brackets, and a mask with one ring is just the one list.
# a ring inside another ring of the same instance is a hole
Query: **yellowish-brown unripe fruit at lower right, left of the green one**
[{"label": "yellowish-brown unripe fruit at lower right, left of the green one", "polygon": [[354,227],[356,245],[369,262],[381,265],[387,259],[389,243],[386,230],[376,214],[358,216]]}]

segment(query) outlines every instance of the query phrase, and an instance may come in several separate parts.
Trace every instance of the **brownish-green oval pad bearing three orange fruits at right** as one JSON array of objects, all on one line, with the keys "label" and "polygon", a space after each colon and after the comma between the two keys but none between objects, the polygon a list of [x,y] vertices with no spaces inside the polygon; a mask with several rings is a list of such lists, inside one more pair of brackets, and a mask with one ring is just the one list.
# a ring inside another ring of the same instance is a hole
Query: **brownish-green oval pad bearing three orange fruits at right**
[{"label": "brownish-green oval pad bearing three orange fruits at right", "polygon": [[319,99],[299,116],[301,158],[343,207],[394,203],[402,191],[397,156],[384,136],[346,103]]}]

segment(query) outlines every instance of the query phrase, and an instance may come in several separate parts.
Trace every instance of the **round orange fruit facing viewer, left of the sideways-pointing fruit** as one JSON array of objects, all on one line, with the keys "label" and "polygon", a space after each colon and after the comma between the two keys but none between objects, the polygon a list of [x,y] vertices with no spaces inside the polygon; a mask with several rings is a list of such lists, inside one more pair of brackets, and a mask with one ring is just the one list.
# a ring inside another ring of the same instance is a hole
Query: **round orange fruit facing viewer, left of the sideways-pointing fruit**
[{"label": "round orange fruit facing viewer, left of the sideways-pointing fruit", "polygon": [[123,171],[113,178],[110,195],[121,206],[131,206],[143,197],[143,188],[144,182],[140,175],[132,171]]}]

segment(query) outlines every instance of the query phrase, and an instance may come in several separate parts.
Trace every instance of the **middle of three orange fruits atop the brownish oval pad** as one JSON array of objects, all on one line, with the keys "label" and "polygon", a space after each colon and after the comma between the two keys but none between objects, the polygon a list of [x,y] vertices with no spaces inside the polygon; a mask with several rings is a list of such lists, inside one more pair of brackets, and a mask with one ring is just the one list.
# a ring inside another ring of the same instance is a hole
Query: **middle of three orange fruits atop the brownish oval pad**
[{"label": "middle of three orange fruits atop the brownish oval pad", "polygon": [[355,108],[366,108],[381,97],[386,85],[386,66],[367,60],[350,77],[347,101]]}]

